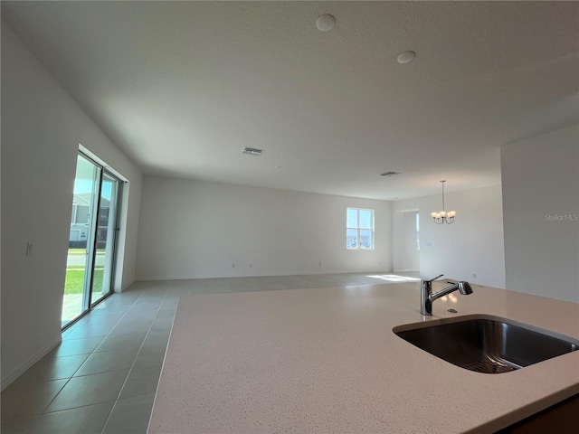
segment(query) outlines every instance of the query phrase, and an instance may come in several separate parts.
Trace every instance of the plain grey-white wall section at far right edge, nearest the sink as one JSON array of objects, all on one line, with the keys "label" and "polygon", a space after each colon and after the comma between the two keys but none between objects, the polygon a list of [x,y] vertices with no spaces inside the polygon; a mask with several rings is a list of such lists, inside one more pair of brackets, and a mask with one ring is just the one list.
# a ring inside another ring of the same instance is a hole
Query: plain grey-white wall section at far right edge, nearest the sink
[{"label": "plain grey-white wall section at far right edge, nearest the sink", "polygon": [[579,127],[501,148],[507,288],[579,302]]}]

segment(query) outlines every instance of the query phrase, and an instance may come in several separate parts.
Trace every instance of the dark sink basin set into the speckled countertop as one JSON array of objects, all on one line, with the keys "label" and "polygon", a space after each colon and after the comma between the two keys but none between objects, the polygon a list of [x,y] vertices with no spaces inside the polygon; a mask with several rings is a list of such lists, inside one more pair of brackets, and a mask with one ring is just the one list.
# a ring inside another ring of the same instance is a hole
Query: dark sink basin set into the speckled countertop
[{"label": "dark sink basin set into the speckled countertop", "polygon": [[394,333],[478,373],[508,373],[579,349],[579,340],[498,316],[472,315],[399,325]]}]

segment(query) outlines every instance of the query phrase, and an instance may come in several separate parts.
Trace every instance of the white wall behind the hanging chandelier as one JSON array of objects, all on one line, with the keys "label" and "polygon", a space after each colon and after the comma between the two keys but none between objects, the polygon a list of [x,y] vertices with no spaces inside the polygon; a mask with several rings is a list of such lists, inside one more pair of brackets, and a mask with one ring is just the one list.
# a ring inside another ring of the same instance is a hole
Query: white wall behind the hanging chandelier
[{"label": "white wall behind the hanging chandelier", "polygon": [[[457,212],[452,224],[436,224],[430,215],[441,208],[441,195],[397,201],[394,214],[420,210],[420,274],[505,288],[505,261],[500,186],[445,193],[447,210]],[[402,219],[394,220],[394,232],[403,231]],[[394,250],[401,249],[394,244]],[[473,277],[476,274],[476,278]]]}]

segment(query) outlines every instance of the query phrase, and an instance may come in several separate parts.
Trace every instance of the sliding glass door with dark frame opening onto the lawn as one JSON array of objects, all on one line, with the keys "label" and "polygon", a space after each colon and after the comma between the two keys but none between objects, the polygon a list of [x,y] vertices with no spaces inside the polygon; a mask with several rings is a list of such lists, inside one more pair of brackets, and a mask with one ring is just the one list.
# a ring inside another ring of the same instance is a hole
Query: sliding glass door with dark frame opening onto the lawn
[{"label": "sliding glass door with dark frame opening onto the lawn", "polygon": [[80,154],[62,301],[62,328],[112,292],[120,183]]}]

